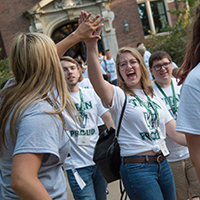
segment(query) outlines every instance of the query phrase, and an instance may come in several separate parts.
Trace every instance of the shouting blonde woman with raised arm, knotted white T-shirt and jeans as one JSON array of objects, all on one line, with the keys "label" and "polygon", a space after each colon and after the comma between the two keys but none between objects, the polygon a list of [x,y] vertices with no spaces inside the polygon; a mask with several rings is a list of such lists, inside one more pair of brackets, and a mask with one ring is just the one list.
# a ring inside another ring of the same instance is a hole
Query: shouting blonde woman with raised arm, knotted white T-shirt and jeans
[{"label": "shouting blonde woman with raised arm, knotted white T-shirt and jeans", "polygon": [[[87,16],[87,13],[83,13]],[[94,34],[99,35],[100,30]],[[130,47],[119,49],[116,58],[119,87],[103,79],[98,61],[97,40],[85,40],[89,78],[96,93],[110,109],[115,126],[127,95],[118,142],[120,174],[131,200],[175,200],[172,172],[166,156],[166,133],[187,145],[175,132],[175,122],[161,100],[154,96],[141,55]],[[125,93],[125,94],[124,94]]]}]

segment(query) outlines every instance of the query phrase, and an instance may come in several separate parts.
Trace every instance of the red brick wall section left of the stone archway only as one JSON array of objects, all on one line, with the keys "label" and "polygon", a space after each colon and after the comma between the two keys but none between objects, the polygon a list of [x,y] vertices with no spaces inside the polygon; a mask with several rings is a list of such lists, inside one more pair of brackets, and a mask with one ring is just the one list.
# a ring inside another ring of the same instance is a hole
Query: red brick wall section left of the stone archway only
[{"label": "red brick wall section left of the stone archway only", "polygon": [[13,38],[20,32],[28,32],[30,20],[23,16],[23,12],[30,9],[40,0],[6,0],[1,1],[0,6],[0,32],[2,40],[0,48],[5,47],[4,55],[0,58],[7,57],[10,52]]}]

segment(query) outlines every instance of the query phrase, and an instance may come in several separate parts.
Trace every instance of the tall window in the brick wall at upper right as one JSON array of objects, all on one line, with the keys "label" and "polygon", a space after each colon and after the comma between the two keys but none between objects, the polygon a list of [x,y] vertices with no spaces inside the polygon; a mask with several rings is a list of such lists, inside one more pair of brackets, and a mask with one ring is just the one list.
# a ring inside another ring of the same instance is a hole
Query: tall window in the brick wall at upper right
[{"label": "tall window in the brick wall at upper right", "polygon": [[145,35],[149,34],[149,30],[158,33],[165,31],[168,19],[163,0],[141,2],[138,4],[138,10]]}]

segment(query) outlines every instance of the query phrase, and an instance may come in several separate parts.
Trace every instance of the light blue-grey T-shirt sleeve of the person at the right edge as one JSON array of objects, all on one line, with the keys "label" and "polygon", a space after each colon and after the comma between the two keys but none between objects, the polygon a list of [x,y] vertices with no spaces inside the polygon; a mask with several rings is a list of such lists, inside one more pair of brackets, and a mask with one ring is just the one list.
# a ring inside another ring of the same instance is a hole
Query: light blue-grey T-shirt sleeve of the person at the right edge
[{"label": "light blue-grey T-shirt sleeve of the person at the right edge", "polygon": [[185,84],[182,87],[176,131],[200,135],[200,91]]}]

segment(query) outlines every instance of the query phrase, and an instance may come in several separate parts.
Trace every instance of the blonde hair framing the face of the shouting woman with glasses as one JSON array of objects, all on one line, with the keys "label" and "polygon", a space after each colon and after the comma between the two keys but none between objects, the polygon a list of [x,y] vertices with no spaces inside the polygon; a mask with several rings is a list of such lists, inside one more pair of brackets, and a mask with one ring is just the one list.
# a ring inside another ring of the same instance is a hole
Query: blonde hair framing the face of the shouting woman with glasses
[{"label": "blonde hair framing the face of the shouting woman with glasses", "polygon": [[145,65],[145,62],[142,58],[142,56],[140,55],[140,53],[133,49],[132,47],[122,47],[119,49],[118,53],[117,53],[117,57],[116,57],[116,68],[117,68],[117,77],[118,77],[118,86],[126,93],[129,94],[131,96],[135,96],[134,91],[127,87],[126,83],[124,82],[120,71],[119,71],[119,63],[120,63],[120,56],[121,54],[128,52],[131,53],[139,62],[140,65],[140,69],[141,69],[141,86],[142,89],[148,94],[151,95],[151,97],[153,97],[154,93],[153,93],[153,86],[151,83],[151,79],[149,78],[149,72],[147,70],[147,67]]}]

